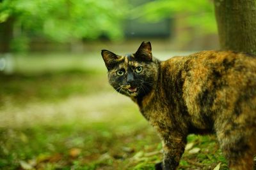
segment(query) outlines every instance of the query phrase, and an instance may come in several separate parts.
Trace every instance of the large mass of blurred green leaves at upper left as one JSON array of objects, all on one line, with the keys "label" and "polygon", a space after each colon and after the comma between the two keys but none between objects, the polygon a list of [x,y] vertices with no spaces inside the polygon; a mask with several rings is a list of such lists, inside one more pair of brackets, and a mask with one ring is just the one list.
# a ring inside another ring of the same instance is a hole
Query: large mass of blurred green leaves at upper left
[{"label": "large mass of blurred green leaves at upper left", "polygon": [[[116,8],[118,7],[118,8]],[[4,0],[0,22],[15,19],[15,31],[27,36],[45,36],[55,41],[122,37],[125,1]],[[19,37],[19,35],[18,35]]]}]

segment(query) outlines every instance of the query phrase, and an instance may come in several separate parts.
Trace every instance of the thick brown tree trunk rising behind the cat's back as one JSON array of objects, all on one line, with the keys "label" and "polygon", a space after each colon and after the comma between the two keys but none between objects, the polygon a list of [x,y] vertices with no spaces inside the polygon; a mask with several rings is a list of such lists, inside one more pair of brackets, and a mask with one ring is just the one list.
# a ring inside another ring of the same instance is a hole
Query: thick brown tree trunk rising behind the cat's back
[{"label": "thick brown tree trunk rising behind the cat's back", "polygon": [[214,0],[221,50],[256,55],[256,1]]}]

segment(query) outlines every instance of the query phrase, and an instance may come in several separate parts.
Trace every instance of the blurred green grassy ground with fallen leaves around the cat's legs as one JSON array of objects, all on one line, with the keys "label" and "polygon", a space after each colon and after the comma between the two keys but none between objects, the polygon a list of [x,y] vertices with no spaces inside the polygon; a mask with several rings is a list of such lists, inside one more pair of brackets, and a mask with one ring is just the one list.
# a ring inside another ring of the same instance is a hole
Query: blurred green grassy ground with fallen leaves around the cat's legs
[{"label": "blurred green grassy ground with fallen leaves around the cat's legs", "polygon": [[[0,74],[0,169],[154,169],[160,140],[108,85],[94,63],[101,61],[54,68],[47,59],[41,69],[39,57],[17,59],[15,73]],[[188,143],[179,169],[227,169],[214,136],[190,135]]]}]

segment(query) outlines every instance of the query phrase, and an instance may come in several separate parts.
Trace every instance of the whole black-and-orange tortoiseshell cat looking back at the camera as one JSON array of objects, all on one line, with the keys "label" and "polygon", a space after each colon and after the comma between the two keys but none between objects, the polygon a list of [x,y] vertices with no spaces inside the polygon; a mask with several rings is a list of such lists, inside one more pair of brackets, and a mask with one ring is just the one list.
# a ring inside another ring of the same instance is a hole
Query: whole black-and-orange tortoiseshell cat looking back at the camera
[{"label": "whole black-and-orange tortoiseshell cat looking back at the camera", "polygon": [[256,57],[205,51],[159,61],[151,45],[121,56],[102,50],[109,83],[131,97],[163,141],[163,163],[177,169],[188,134],[215,133],[230,169],[253,169]]}]

